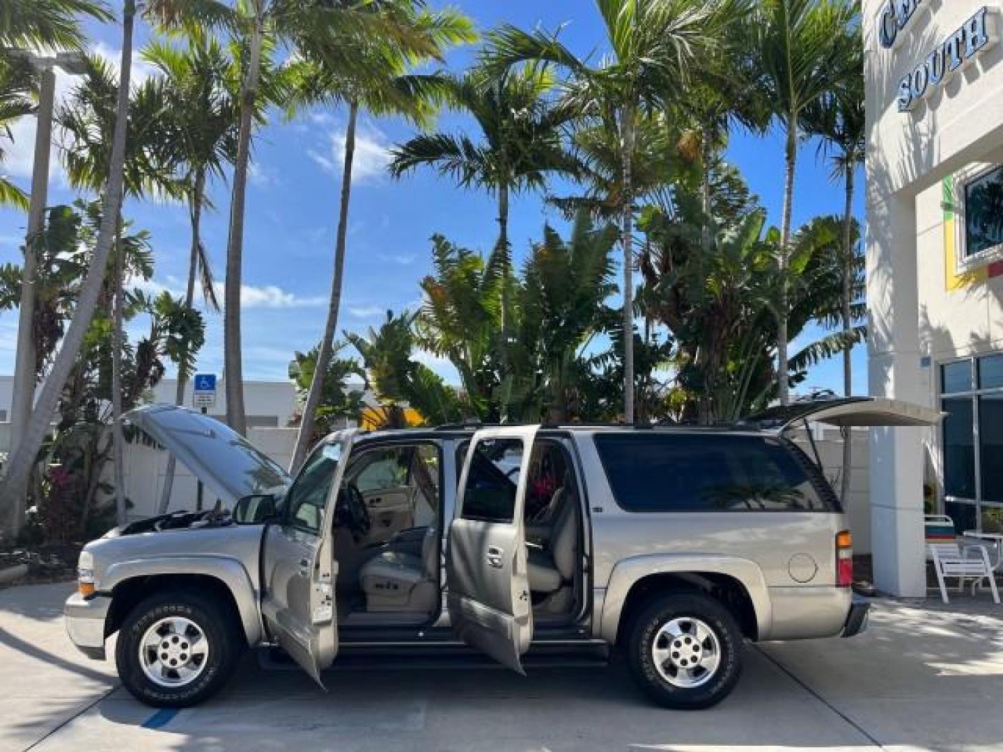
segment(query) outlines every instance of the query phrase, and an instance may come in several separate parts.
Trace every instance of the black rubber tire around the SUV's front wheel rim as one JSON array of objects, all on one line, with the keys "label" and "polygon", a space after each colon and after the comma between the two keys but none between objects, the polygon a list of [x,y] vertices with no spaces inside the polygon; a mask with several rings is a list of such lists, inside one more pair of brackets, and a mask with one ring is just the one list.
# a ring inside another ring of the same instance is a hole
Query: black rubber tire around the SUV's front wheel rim
[{"label": "black rubber tire around the SUV's front wheel rim", "polygon": [[[139,649],[147,630],[164,618],[180,617],[194,623],[208,640],[208,656],[189,683],[165,687],[144,672]],[[246,641],[240,624],[228,609],[201,593],[158,593],[129,612],[118,632],[115,665],[118,676],[133,697],[156,708],[187,708],[215,694],[230,678],[244,652]]]}]

